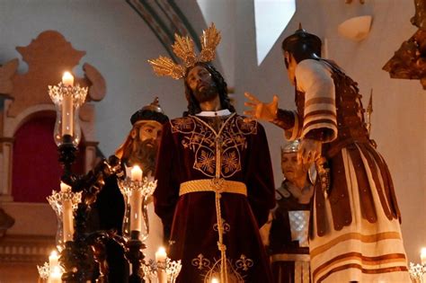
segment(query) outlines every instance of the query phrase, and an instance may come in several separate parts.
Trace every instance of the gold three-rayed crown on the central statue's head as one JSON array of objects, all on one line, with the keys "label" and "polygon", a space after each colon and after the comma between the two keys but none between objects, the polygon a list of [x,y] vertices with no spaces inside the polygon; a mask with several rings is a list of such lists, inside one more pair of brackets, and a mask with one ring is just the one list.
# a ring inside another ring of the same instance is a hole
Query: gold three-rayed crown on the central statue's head
[{"label": "gold three-rayed crown on the central statue's head", "polygon": [[194,41],[188,36],[182,37],[175,33],[174,44],[172,45],[173,53],[183,60],[183,64],[176,64],[172,58],[164,56],[148,60],[148,62],[156,75],[169,75],[178,80],[185,75],[187,68],[198,62],[210,62],[215,58],[215,50],[220,42],[220,32],[217,31],[214,23],[211,23],[211,26],[202,32],[200,41],[201,52],[200,56],[197,56],[194,50]]}]

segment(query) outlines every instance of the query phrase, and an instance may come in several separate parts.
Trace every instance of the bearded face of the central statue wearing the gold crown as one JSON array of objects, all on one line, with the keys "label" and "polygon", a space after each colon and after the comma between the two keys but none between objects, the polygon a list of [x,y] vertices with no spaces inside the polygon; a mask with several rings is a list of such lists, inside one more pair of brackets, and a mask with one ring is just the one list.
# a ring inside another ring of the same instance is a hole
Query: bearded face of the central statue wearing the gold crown
[{"label": "bearded face of the central statue wearing the gold crown", "polygon": [[197,102],[209,102],[216,98],[217,86],[204,66],[194,66],[186,76],[186,83],[190,86]]}]

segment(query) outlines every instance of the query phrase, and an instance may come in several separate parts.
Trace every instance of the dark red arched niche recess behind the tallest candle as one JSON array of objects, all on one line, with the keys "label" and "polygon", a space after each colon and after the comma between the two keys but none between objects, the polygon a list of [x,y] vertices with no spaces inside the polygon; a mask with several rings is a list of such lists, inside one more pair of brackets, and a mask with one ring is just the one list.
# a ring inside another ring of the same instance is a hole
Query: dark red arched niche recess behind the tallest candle
[{"label": "dark red arched niche recess behind the tallest candle", "polygon": [[[37,111],[22,119],[13,133],[12,191],[15,202],[46,203],[58,190],[62,175],[58,147],[53,139],[55,111]],[[73,172],[84,173],[85,138],[78,147]]]}]

